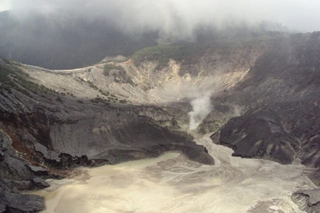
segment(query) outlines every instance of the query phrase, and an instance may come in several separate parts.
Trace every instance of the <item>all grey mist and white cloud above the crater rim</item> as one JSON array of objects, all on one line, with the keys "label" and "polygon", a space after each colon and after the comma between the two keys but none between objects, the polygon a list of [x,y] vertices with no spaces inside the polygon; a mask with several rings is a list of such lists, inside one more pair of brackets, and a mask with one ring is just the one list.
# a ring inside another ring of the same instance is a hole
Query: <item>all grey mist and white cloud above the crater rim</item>
[{"label": "all grey mist and white cloud above the crater rim", "polygon": [[0,57],[78,68],[157,43],[320,26],[316,0],[1,0]]}]

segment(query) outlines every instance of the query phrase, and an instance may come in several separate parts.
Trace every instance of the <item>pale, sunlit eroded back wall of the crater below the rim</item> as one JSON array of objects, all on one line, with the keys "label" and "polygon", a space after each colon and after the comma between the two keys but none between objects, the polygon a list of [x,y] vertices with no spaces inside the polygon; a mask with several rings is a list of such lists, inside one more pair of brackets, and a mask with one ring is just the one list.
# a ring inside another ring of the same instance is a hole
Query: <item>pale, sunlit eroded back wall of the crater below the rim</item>
[{"label": "pale, sunlit eroded back wall of the crater below the rim", "polygon": [[178,50],[154,47],[148,51],[164,50],[150,58],[148,52],[141,51],[124,61],[114,58],[74,70],[47,70],[29,65],[21,68],[34,82],[78,98],[92,99],[98,95],[108,99],[112,94],[118,100],[159,105],[194,98],[204,90],[218,93],[232,88],[243,80],[268,46],[263,40],[202,44],[196,55],[192,52],[194,49],[187,49],[186,59],[181,55],[166,58],[164,62],[162,58],[167,57],[168,52],[179,54],[187,47]]}]

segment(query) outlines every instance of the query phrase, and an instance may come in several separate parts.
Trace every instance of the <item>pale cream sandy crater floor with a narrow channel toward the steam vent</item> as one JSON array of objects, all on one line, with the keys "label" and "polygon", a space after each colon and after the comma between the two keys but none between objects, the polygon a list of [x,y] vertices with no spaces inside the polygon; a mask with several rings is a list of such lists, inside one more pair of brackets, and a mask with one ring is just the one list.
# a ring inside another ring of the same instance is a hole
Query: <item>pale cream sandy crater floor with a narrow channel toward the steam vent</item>
[{"label": "pale cream sandy crater floor with a narrow channel toward the steam vent", "polygon": [[298,189],[314,188],[309,169],[231,157],[232,150],[204,145],[216,165],[188,161],[179,153],[82,168],[71,180],[52,180],[44,213],[301,213],[290,200]]}]

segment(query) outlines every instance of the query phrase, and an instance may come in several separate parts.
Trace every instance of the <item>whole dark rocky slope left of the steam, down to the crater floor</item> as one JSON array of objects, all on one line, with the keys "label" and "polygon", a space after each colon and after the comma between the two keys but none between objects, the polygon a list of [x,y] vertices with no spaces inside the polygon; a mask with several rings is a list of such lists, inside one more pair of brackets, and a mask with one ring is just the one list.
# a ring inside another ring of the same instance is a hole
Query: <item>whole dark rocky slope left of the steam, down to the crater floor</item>
[{"label": "whole dark rocky slope left of the steam, down to the crater floor", "polygon": [[16,192],[47,187],[41,178],[59,178],[76,166],[115,164],[170,150],[214,163],[191,136],[156,124],[177,126],[169,106],[164,111],[62,95],[33,83],[16,65],[1,61],[1,212],[43,209],[42,198]]}]

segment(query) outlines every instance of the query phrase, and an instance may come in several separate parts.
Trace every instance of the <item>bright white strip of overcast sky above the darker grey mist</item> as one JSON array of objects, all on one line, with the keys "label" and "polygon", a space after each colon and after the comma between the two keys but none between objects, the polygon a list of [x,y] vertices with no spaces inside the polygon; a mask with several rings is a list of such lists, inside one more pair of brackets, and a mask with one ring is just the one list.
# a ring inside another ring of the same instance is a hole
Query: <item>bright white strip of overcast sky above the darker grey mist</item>
[{"label": "bright white strip of overcast sky above the darker grey mist", "polygon": [[320,30],[320,0],[0,0],[0,10],[25,16],[38,11],[72,12],[85,18],[112,19],[125,29],[187,33],[198,23],[223,27],[228,22],[281,23],[292,30]]}]

